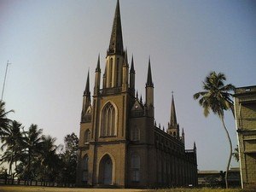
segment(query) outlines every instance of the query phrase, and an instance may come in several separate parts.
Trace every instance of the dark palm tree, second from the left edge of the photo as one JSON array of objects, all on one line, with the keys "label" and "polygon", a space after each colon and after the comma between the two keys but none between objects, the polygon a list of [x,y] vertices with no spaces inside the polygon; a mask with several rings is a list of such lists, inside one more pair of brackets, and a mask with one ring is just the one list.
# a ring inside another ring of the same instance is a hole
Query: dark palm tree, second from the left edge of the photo
[{"label": "dark palm tree, second from the left edge of the photo", "polygon": [[12,174],[12,166],[18,160],[20,160],[21,154],[23,153],[23,145],[24,145],[24,132],[21,131],[23,127],[17,121],[12,121],[11,125],[9,125],[9,129],[5,130],[4,135],[2,137],[3,145],[1,149],[6,148],[3,153],[3,157],[1,158],[2,162],[9,163],[9,175]]}]

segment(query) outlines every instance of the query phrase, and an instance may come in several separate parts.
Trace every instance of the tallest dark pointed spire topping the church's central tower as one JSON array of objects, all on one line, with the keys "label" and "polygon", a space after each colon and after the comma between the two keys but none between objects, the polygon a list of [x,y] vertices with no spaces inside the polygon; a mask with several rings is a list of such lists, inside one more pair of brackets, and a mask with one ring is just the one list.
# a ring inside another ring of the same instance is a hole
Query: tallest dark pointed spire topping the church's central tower
[{"label": "tallest dark pointed spire topping the church's central tower", "polygon": [[118,54],[123,55],[123,36],[122,36],[122,26],[121,26],[121,17],[120,17],[120,8],[119,0],[116,3],[113,26],[111,32],[111,38],[109,42],[108,55]]}]

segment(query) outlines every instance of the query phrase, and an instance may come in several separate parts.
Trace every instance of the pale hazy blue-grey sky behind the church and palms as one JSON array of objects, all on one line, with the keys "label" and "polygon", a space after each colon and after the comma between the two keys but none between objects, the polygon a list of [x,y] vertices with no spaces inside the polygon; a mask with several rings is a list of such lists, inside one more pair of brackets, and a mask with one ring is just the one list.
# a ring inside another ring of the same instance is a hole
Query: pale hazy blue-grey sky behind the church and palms
[{"label": "pale hazy blue-grey sky behind the church and palms", "polygon": [[[105,65],[115,0],[0,0],[0,89],[9,117],[58,138],[79,134],[87,70],[94,86],[97,56]],[[172,90],[186,148],[194,141],[200,170],[224,170],[228,143],[214,115],[193,100],[215,70],[236,86],[256,84],[255,1],[120,0],[125,48],[134,55],[136,87],[144,97],[151,57],[155,119],[167,125]],[[226,121],[234,148],[236,126]],[[232,162],[232,167],[238,166]]]}]

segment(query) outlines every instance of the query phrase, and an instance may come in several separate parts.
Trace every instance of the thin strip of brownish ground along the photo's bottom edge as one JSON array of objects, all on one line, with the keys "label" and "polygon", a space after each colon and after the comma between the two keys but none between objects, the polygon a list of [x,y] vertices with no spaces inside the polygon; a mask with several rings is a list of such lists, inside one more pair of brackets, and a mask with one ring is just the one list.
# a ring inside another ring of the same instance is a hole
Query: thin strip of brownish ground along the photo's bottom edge
[{"label": "thin strip of brownish ground along the photo's bottom edge", "polygon": [[25,186],[0,186],[0,192],[255,192],[255,189],[79,189],[79,188],[52,188],[52,187],[25,187]]}]

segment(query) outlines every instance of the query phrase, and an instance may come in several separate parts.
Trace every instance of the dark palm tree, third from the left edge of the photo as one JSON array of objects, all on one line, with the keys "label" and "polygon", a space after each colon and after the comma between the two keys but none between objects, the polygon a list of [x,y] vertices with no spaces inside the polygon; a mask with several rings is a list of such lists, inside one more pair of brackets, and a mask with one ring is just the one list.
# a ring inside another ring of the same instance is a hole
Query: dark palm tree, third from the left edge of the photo
[{"label": "dark palm tree, third from the left edge of the photo", "polygon": [[31,179],[32,170],[31,166],[33,161],[35,161],[35,157],[40,154],[42,150],[42,137],[43,130],[38,129],[38,125],[32,124],[28,131],[26,131],[26,137],[24,142],[24,148],[26,148],[26,154],[24,157],[24,163],[26,165],[27,178]]}]

